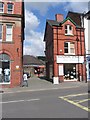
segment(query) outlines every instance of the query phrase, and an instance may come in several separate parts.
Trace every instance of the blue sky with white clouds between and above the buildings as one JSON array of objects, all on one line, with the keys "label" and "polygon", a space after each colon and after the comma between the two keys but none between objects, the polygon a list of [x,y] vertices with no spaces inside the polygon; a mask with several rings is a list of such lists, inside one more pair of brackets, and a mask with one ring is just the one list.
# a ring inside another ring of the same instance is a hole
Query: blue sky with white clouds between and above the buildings
[{"label": "blue sky with white clouds between and above the buildings", "polygon": [[85,13],[88,11],[88,0],[33,0],[25,1],[25,40],[24,55],[45,56],[44,33],[46,20],[55,20],[55,14],[66,17],[68,11]]}]

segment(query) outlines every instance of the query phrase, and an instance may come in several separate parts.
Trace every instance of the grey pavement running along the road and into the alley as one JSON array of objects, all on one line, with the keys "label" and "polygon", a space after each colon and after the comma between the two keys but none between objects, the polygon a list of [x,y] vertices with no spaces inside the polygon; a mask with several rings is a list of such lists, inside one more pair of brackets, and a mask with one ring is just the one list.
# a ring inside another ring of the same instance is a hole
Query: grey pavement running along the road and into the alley
[{"label": "grey pavement running along the road and into the alley", "polygon": [[62,82],[59,84],[53,84],[50,81],[47,81],[44,77],[31,77],[28,79],[28,87],[16,86],[14,88],[2,88],[0,91],[2,93],[15,93],[15,92],[27,92],[27,91],[43,91],[43,90],[54,90],[54,89],[68,89],[68,88],[77,88],[80,86],[86,86],[88,89],[88,82]]}]

